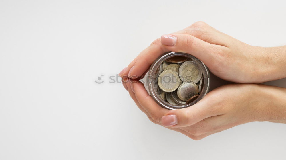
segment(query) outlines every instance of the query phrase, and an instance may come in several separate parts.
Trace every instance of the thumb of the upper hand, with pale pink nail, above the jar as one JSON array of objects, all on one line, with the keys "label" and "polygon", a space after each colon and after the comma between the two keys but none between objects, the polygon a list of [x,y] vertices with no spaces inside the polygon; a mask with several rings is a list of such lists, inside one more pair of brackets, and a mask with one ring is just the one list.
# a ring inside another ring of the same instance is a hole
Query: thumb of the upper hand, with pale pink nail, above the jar
[{"label": "thumb of the upper hand, with pale pink nail, above the jar", "polygon": [[211,65],[226,47],[210,44],[189,34],[169,34],[161,36],[162,45],[172,52],[188,53]]}]

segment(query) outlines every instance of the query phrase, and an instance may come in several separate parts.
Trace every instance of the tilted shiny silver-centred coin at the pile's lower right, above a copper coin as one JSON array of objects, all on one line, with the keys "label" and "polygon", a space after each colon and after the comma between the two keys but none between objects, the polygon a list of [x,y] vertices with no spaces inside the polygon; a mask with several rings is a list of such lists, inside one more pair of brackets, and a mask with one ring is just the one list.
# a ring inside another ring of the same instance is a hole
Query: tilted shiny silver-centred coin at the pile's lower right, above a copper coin
[{"label": "tilted shiny silver-centred coin at the pile's lower right, above a copper coin", "polygon": [[190,97],[198,94],[198,86],[194,82],[184,82],[178,87],[178,97],[187,101]]}]

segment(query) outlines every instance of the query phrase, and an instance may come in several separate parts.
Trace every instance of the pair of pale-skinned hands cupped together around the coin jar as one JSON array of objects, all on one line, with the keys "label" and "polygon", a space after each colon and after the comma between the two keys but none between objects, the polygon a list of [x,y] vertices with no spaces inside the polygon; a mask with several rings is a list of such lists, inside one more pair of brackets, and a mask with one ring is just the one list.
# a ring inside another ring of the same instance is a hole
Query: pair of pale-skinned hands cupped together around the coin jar
[{"label": "pair of pale-skinned hands cupped together around the coin jar", "polygon": [[[221,86],[188,108],[162,108],[141,83],[130,80],[142,75],[168,51],[192,54],[216,76],[236,84]],[[286,123],[286,89],[251,84],[286,77],[286,46],[251,46],[204,22],[156,39],[119,75],[138,108],[152,122],[194,140],[247,122]]]}]

